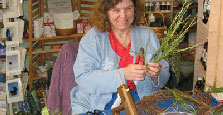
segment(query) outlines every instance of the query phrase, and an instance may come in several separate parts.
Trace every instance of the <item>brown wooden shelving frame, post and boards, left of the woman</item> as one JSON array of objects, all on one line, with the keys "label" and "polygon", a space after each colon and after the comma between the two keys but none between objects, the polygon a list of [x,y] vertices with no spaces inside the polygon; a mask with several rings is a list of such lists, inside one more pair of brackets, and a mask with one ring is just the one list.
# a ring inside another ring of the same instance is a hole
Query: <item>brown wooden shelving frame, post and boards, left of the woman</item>
[{"label": "brown wooden shelving frame, post and boards, left of the woman", "polygon": [[[34,4],[35,3],[35,4]],[[29,43],[28,55],[29,55],[29,82],[30,89],[33,88],[33,81],[41,79],[38,75],[35,74],[35,68],[39,65],[43,65],[46,59],[46,54],[59,52],[60,49],[51,49],[47,51],[36,51],[37,48],[43,48],[44,43],[49,41],[64,41],[67,39],[72,39],[73,41],[79,41],[84,34],[72,34],[69,36],[54,36],[54,37],[33,37],[33,20],[43,16],[44,11],[46,10],[45,0],[29,0],[29,39],[25,42]],[[54,58],[55,59],[55,58]]]}]

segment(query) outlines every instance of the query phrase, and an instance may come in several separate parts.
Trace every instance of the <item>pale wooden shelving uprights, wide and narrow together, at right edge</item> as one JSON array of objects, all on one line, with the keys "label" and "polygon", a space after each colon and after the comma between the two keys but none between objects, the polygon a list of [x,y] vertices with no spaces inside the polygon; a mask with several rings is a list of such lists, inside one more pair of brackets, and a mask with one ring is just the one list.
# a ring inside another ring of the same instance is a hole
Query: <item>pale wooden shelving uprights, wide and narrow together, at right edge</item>
[{"label": "pale wooden shelving uprights, wide and narrow together, at right edge", "polygon": [[[211,1],[211,12],[208,23],[204,24],[203,17],[203,0],[198,0],[198,23],[197,23],[197,43],[208,41],[208,60],[207,70],[203,69],[200,58],[203,46],[196,48],[195,64],[194,64],[194,84],[197,77],[204,77],[209,86],[216,85],[217,88],[223,87],[223,1]],[[208,38],[208,40],[207,40]],[[207,89],[208,87],[206,87]]]}]

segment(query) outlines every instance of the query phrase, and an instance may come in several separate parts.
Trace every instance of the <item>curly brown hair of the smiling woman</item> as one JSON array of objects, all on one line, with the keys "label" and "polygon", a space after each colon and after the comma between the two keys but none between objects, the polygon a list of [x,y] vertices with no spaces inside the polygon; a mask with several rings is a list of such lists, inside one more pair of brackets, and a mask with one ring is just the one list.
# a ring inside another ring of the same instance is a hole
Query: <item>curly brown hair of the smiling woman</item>
[{"label": "curly brown hair of the smiling woman", "polygon": [[[140,20],[144,15],[144,0],[131,0],[134,3],[134,21],[133,26],[139,25]],[[91,23],[100,32],[109,31],[111,28],[108,19],[108,11],[117,5],[122,0],[98,0],[91,15]]]}]

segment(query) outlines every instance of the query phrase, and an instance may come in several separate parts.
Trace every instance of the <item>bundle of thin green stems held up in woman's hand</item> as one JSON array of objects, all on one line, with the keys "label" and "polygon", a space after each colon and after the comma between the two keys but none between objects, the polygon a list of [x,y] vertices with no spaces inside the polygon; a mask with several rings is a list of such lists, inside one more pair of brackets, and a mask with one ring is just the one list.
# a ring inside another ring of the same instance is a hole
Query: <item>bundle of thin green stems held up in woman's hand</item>
[{"label": "bundle of thin green stems held up in woman's hand", "polygon": [[[191,28],[194,24],[196,24],[196,17],[194,17],[192,21],[189,20],[190,16],[186,18],[184,17],[190,5],[191,5],[190,2],[185,2],[182,9],[176,14],[172,24],[168,28],[166,37],[161,38],[160,48],[154,53],[151,60],[155,60],[154,62],[159,62],[161,59],[164,59],[167,56],[182,51],[186,51],[188,49],[192,49],[194,47],[201,45],[201,44],[196,44],[194,46],[190,46],[184,49],[179,49],[179,44],[183,41],[186,32],[189,30],[189,28]],[[180,25],[182,24],[184,26],[181,30],[179,30]],[[161,52],[162,54],[160,55]]]}]

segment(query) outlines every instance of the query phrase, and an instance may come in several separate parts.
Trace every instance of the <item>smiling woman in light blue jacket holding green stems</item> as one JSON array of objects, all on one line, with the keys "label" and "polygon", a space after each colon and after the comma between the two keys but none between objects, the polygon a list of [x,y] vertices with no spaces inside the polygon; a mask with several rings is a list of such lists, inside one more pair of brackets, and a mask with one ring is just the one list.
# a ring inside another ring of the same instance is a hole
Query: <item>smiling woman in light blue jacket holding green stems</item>
[{"label": "smiling woman in light blue jacket holding green stems", "polygon": [[[143,16],[142,3],[140,0],[98,1],[92,16],[94,27],[81,39],[74,64],[78,86],[71,91],[72,114],[118,106],[117,72],[129,86],[134,101],[154,93],[168,81],[168,63],[150,62],[159,48],[156,34],[147,27],[137,26]],[[146,64],[139,61],[140,49],[145,50]]]}]

